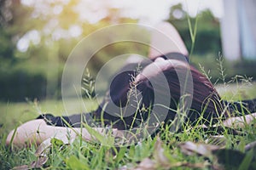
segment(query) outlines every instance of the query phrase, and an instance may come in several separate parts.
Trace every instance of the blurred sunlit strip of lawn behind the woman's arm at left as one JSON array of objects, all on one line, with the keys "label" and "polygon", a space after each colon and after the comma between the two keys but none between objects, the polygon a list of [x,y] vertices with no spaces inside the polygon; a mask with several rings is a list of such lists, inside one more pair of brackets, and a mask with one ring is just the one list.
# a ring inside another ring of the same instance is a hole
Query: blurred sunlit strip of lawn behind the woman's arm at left
[{"label": "blurred sunlit strip of lawn behind the woman's arm at left", "polygon": [[[84,105],[82,104],[84,103]],[[51,113],[55,116],[67,116],[74,113],[88,112],[96,109],[97,103],[94,100],[68,99],[68,105],[63,105],[62,100],[27,100],[27,102],[0,102],[0,133],[7,133],[15,126],[29,120],[35,119],[40,114]],[[85,107],[85,108],[84,108]],[[72,113],[67,111],[73,111]]]}]

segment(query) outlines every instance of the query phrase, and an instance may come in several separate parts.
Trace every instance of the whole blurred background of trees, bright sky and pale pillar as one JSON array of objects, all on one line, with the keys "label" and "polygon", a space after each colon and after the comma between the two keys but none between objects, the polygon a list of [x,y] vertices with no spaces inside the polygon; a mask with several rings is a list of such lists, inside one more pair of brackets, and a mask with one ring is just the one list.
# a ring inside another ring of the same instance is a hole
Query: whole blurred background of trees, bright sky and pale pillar
[{"label": "whole blurred background of trees, bright sky and pale pillar", "polygon": [[[0,101],[61,99],[61,75],[76,44],[97,29],[119,23],[176,26],[195,67],[225,81],[256,77],[254,0],[0,0]],[[108,59],[147,47],[116,44],[91,60],[90,75]],[[4,104],[6,105],[6,104]]]}]

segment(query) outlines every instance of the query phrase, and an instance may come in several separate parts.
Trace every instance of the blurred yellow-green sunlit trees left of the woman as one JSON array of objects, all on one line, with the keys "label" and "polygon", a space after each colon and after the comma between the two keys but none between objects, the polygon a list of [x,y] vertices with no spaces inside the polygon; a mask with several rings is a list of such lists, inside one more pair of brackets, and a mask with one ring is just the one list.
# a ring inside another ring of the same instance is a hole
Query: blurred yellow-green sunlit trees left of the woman
[{"label": "blurred yellow-green sunlit trees left of the woman", "polygon": [[[63,65],[79,40],[122,22],[137,20],[120,17],[108,2],[0,0],[0,98],[61,97]],[[123,54],[124,49],[105,48],[94,57],[91,71],[110,59],[112,51]]]}]

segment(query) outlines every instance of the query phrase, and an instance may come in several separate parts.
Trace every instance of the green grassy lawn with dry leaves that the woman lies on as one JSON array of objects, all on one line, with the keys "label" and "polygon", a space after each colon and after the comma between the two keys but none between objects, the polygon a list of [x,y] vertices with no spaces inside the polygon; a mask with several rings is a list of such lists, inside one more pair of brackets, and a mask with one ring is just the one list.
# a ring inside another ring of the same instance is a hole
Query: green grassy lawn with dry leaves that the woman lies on
[{"label": "green grassy lawn with dry leaves that the woman lies on", "polygon": [[[217,85],[219,94],[224,99],[256,98],[256,84]],[[84,101],[88,110],[96,108],[96,103]],[[80,112],[81,105],[70,100],[74,113]],[[61,100],[28,101],[24,103],[0,103],[0,169],[10,169],[20,165],[32,165],[40,159],[35,155],[36,146],[11,150],[4,141],[9,130],[37,117],[41,113],[50,112],[55,115],[65,113]],[[213,138],[200,127],[184,127],[183,132],[172,133],[161,129],[160,134],[121,148],[75,140],[73,144],[52,142],[47,153],[47,161],[38,168],[45,169],[251,169],[256,167],[255,151],[247,150],[246,144],[256,141],[255,125],[241,129],[245,135],[233,135],[224,130],[221,139]],[[193,142],[193,144],[186,142]],[[187,145],[186,145],[187,144]],[[212,151],[214,144],[222,150]],[[189,147],[189,149],[188,149]],[[201,148],[201,149],[198,149]],[[201,153],[201,150],[205,150]],[[224,162],[222,162],[222,161]]]}]

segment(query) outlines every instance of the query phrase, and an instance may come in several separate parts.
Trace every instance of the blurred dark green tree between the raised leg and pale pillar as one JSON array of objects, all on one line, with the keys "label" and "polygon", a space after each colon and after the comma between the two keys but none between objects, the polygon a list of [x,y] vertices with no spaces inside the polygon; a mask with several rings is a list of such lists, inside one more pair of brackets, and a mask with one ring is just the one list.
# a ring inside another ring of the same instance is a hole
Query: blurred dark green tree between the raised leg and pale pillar
[{"label": "blurred dark green tree between the raised leg and pale pillar", "polygon": [[[182,4],[177,4],[170,9],[167,21],[177,28],[187,48],[190,50],[192,42],[187,17],[190,16],[183,10]],[[218,52],[222,50],[218,19],[214,18],[210,10],[204,10],[197,14],[196,17],[198,26],[196,29],[194,54],[213,54],[218,57]],[[194,18],[190,19],[195,20]]]}]

